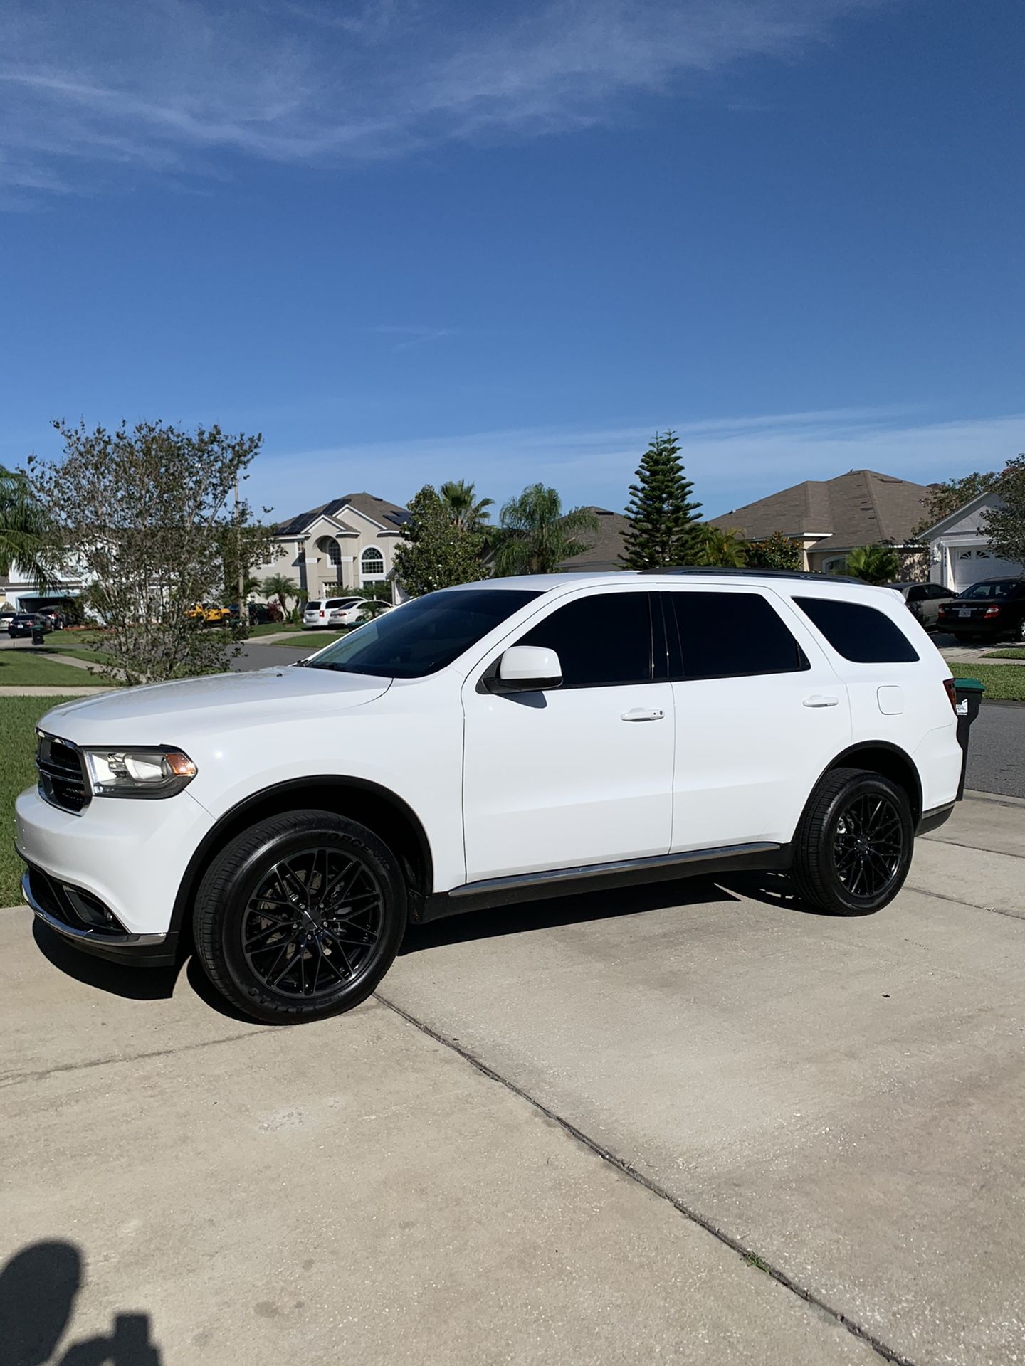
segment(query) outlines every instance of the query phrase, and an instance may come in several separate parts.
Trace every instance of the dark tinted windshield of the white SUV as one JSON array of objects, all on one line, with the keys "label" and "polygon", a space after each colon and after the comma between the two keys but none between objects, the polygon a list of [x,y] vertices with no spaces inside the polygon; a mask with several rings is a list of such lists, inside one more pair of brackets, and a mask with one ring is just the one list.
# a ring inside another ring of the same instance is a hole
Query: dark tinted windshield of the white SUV
[{"label": "dark tinted windshield of the white SUV", "polygon": [[443,589],[385,612],[306,661],[312,669],[420,679],[451,664],[538,594],[525,589]]}]

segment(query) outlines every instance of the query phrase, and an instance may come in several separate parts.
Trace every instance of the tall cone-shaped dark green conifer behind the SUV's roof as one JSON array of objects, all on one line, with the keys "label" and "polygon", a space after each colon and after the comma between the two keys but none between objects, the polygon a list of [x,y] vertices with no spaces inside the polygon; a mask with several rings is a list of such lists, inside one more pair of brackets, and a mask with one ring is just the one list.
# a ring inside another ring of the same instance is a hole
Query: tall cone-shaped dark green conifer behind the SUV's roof
[{"label": "tall cone-shaped dark green conifer behind the SUV's roof", "polygon": [[696,564],[702,553],[698,530],[700,503],[690,497],[694,485],[683,474],[679,441],[674,432],[655,434],[641,456],[637,484],[630,485],[626,515],[625,553],[620,561],[630,570],[671,568]]}]

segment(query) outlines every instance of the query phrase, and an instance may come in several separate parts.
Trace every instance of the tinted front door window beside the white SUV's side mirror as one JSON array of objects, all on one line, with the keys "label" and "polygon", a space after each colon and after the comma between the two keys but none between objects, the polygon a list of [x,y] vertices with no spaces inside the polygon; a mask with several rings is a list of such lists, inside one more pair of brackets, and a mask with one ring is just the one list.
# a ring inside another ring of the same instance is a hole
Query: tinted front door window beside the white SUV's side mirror
[{"label": "tinted front door window beside the white SUV's side mirror", "polygon": [[649,683],[652,622],[649,593],[600,593],[567,602],[517,645],[543,645],[562,664],[563,687]]}]

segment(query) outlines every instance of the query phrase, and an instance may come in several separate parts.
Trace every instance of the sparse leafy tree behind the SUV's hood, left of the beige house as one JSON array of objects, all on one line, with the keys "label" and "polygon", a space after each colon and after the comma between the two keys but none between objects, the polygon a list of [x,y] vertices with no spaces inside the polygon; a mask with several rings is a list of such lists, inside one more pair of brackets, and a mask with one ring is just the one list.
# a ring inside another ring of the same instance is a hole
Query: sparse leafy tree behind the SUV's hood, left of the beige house
[{"label": "sparse leafy tree behind the SUV's hood, left of the beige house", "polygon": [[113,432],[53,425],[63,458],[30,459],[29,477],[90,583],[90,602],[107,626],[105,671],[128,683],[223,671],[241,647],[242,627],[202,631],[189,612],[220,591],[226,534],[253,522],[234,492],[261,437],[163,422]]}]

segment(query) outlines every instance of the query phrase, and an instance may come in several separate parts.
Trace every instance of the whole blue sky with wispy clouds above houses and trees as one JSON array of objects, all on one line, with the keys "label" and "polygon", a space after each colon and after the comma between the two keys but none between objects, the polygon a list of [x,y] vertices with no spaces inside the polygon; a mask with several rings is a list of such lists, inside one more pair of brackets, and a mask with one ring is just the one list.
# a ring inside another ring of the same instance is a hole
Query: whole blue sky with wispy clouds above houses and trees
[{"label": "whole blue sky with wispy clouds above houses and trees", "polygon": [[1025,449],[1020,5],[8,0],[0,462],[261,430],[286,515],[674,426],[708,515]]}]

